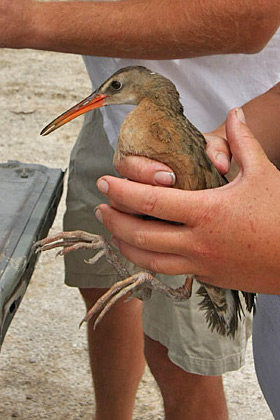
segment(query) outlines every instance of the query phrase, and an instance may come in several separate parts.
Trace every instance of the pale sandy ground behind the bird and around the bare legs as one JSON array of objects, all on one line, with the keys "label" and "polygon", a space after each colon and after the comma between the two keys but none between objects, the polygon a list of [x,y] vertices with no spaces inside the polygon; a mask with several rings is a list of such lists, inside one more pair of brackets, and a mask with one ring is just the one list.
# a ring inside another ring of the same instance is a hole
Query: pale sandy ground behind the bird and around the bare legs
[{"label": "pale sandy ground behind the bird and around the bare legs", "polygon": [[[17,159],[66,168],[81,119],[47,138],[51,119],[91,91],[78,56],[34,51],[0,52],[1,161]],[[53,231],[61,229],[64,199]],[[0,418],[89,420],[94,399],[79,293],[63,284],[63,263],[42,255],[0,355]],[[251,342],[246,365],[224,378],[232,420],[273,417],[255,376]],[[145,373],[134,419],[163,419],[159,392]],[[113,420],[113,419],[112,419]]]}]

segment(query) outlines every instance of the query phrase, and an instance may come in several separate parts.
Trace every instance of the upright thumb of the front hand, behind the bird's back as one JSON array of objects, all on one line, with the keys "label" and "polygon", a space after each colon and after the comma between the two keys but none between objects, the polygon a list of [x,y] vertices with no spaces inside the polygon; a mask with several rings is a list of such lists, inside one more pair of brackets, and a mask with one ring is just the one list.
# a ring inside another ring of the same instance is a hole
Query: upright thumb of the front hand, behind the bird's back
[{"label": "upright thumb of the front hand, behind the bird's back", "polygon": [[246,125],[242,108],[234,108],[228,113],[226,133],[232,156],[242,171],[259,165],[266,158],[260,143]]}]

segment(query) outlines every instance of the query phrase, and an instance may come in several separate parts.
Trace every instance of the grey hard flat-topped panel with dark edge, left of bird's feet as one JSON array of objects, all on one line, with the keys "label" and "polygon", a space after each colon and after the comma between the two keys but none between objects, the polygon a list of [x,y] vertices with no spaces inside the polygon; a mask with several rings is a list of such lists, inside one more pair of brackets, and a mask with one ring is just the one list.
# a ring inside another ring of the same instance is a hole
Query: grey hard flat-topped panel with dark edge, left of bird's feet
[{"label": "grey hard flat-topped panel with dark edge, left of bird's feet", "polygon": [[55,218],[63,177],[41,165],[0,164],[0,348],[38,258],[33,244]]}]

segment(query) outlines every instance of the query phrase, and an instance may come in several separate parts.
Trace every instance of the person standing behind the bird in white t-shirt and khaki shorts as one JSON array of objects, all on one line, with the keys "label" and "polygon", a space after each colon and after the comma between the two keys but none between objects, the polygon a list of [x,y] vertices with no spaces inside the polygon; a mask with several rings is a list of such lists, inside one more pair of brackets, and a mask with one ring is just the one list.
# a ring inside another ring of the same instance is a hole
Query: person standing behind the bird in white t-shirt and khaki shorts
[{"label": "person standing behind the bird in white t-shirt and khaki shorts", "polygon": [[[190,120],[209,131],[233,105],[277,81],[278,9],[272,0],[0,0],[0,45],[83,54],[94,88],[119,67],[144,64],[172,79]],[[85,117],[70,159],[65,229],[108,237],[93,216],[103,201],[95,181],[104,173],[116,174],[113,147],[126,112],[119,107]],[[79,287],[89,308],[117,276],[104,261],[89,267],[84,258],[81,253],[66,259],[66,283]],[[161,280],[173,286],[181,282]],[[134,299],[116,305],[96,331],[88,325],[96,420],[132,417],[144,369],[141,312],[141,302]],[[145,356],[166,419],[227,419],[221,375],[244,363],[247,322],[235,340],[221,338],[207,329],[195,298],[179,305],[154,294],[144,304],[143,328]]]}]

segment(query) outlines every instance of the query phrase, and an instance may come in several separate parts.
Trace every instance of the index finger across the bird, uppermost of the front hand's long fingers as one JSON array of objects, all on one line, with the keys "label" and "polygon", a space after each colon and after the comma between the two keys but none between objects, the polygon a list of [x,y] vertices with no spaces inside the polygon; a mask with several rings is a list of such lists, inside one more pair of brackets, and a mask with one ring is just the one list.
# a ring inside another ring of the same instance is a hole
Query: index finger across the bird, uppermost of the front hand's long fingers
[{"label": "index finger across the bird, uppermost of the front hand's long fingers", "polygon": [[162,188],[109,175],[99,178],[97,188],[110,200],[130,208],[132,212],[181,222],[188,226],[196,224],[201,218],[201,212],[205,213],[209,206],[215,205],[215,189],[186,191]]}]

